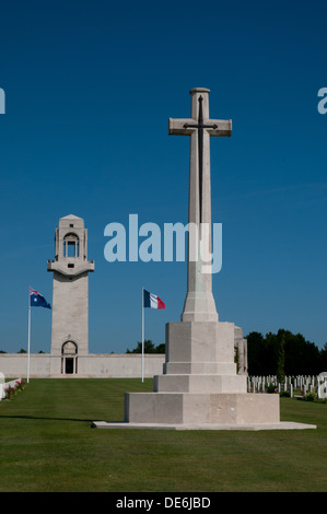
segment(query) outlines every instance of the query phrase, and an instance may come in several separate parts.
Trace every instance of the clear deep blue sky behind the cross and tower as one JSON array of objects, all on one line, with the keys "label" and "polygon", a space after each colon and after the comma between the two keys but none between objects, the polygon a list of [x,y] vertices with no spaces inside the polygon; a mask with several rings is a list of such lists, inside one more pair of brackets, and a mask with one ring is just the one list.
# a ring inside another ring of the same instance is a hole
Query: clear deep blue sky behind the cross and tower
[{"label": "clear deep blue sky behind the cross and tower", "polygon": [[[327,86],[324,1],[11,1],[0,12],[0,350],[27,348],[28,285],[51,303],[59,218],[85,220],[90,352],[141,340],[145,313],[164,341],[186,293],[183,262],[104,258],[104,229],[187,222],[189,90],[209,87],[213,221],[223,267],[213,276],[221,320],[244,334],[285,328],[327,342]],[[32,311],[32,351],[50,349],[50,311]]]}]

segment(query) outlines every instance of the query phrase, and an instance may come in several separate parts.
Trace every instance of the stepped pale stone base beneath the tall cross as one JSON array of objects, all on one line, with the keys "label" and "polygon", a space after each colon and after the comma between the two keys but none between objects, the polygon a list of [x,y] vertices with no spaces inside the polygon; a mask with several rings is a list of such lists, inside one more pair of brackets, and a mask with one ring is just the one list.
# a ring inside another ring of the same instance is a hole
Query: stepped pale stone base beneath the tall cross
[{"label": "stepped pale stone base beneath the tall cross", "polygon": [[[248,394],[234,363],[235,326],[220,322],[166,325],[164,374],[153,393],[126,393],[125,421],[96,428],[268,430],[280,423],[279,395]],[[288,424],[288,428],[300,428]],[[302,428],[315,428],[306,425]]]}]

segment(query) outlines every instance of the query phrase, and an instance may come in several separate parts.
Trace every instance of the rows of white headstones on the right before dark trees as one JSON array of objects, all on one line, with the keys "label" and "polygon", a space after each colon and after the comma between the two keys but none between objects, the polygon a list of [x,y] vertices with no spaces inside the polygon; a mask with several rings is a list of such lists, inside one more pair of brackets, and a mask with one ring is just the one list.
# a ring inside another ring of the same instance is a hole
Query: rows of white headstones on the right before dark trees
[{"label": "rows of white headstones on the right before dark trees", "polygon": [[318,398],[327,398],[327,373],[319,375],[297,375],[285,376],[284,382],[280,383],[276,375],[268,376],[248,376],[248,393],[267,393],[268,388],[275,388],[276,393],[288,392],[291,397],[296,396],[294,392],[301,390],[300,396],[307,393],[316,393]]}]

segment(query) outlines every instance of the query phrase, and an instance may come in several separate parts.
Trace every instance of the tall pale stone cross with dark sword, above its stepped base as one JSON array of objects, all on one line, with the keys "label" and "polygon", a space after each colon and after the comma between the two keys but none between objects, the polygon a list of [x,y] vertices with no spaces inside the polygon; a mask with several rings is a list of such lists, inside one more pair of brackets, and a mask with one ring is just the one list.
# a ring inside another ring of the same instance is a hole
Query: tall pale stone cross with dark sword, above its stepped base
[{"label": "tall pale stone cross with dark sword, above its stepped base", "polygon": [[[211,273],[202,272],[202,255],[211,253],[211,192],[210,192],[210,137],[232,135],[232,121],[209,118],[209,93],[195,87],[191,95],[191,118],[168,121],[168,133],[190,137],[188,222],[198,227],[198,241],[189,237],[187,296],[182,314],[183,322],[217,322],[218,314],[212,296]],[[203,226],[207,230],[203,230]],[[197,248],[191,245],[197,244]],[[191,259],[190,256],[197,256]],[[207,265],[208,262],[206,262]]]}]

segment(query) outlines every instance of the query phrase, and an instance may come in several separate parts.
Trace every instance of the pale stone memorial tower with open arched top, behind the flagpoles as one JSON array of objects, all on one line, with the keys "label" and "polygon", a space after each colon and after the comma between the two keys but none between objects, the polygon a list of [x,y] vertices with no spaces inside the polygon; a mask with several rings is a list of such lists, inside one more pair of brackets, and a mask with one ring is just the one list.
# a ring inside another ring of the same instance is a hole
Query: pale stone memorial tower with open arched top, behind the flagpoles
[{"label": "pale stone memorial tower with open arched top, behind the flagpoles", "polygon": [[55,234],[51,354],[61,355],[62,374],[78,374],[78,357],[89,353],[87,230],[84,220],[69,214],[59,220]]}]

